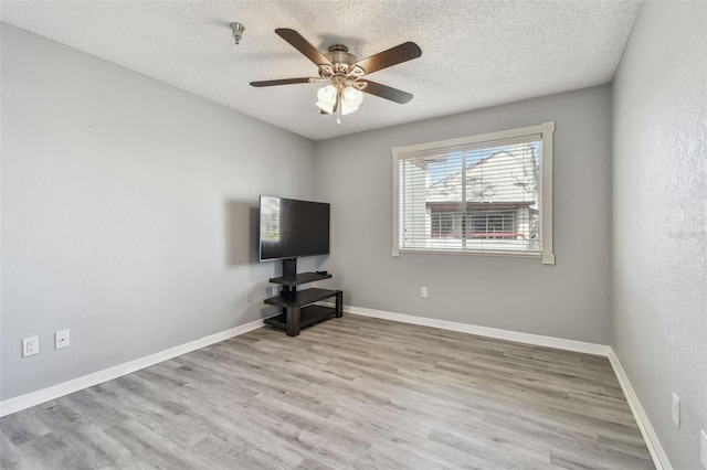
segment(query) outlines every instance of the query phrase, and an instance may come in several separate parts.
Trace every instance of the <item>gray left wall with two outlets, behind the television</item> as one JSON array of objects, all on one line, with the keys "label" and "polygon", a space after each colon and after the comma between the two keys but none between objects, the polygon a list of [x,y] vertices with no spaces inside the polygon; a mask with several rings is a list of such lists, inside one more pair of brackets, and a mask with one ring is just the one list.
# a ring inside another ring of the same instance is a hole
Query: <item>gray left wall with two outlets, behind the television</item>
[{"label": "gray left wall with two outlets, behind the television", "polygon": [[8,24],[1,39],[0,397],[258,319],[276,266],[253,260],[251,207],[314,195],[314,143]]}]

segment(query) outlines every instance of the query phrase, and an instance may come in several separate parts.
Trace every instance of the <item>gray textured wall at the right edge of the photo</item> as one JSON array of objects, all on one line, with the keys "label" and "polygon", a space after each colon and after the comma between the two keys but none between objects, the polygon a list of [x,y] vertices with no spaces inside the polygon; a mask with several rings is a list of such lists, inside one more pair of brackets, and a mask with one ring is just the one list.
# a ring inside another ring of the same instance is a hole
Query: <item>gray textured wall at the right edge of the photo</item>
[{"label": "gray textured wall at the right edge of the photo", "polygon": [[613,346],[685,470],[707,429],[706,24],[705,2],[645,3],[614,82]]}]

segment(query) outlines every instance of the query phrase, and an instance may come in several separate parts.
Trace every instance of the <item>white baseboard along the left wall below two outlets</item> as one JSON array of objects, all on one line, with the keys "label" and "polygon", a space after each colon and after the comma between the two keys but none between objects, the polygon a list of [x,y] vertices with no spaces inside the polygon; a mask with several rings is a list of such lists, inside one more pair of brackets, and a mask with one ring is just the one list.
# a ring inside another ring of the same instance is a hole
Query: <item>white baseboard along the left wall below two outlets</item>
[{"label": "white baseboard along the left wall below two outlets", "polygon": [[218,343],[220,341],[228,340],[229,338],[238,337],[240,334],[247,333],[249,331],[257,330],[264,324],[265,323],[263,320],[251,321],[250,323],[231,328],[229,330],[224,330],[219,333],[201,338],[199,340],[190,341],[188,343],[180,344],[178,346],[170,348],[168,350],[160,351],[145,357],[136,359],[135,361],[114,365],[113,367],[104,368],[103,371],[94,372],[92,374],[84,375],[83,377],[74,378],[68,382],[63,382],[61,384],[52,385],[51,387],[39,389],[36,392],[31,392],[24,395],[15,396],[13,398],[4,399],[0,402],[0,417],[11,415],[22,409],[40,405],[51,399],[78,392],[81,389],[88,388],[107,381],[112,381],[126,374],[131,374],[133,372],[137,372],[141,368],[149,367],[162,361],[167,361],[179,355],[199,350],[201,348]]}]

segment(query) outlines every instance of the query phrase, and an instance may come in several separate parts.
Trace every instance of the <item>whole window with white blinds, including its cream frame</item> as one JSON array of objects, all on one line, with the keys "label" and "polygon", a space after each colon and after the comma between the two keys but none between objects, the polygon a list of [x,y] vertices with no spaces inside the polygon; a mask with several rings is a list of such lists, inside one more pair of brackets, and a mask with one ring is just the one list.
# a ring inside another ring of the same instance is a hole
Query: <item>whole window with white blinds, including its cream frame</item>
[{"label": "whole window with white blinds, including its cream frame", "polygon": [[393,148],[393,256],[552,254],[553,122]]}]

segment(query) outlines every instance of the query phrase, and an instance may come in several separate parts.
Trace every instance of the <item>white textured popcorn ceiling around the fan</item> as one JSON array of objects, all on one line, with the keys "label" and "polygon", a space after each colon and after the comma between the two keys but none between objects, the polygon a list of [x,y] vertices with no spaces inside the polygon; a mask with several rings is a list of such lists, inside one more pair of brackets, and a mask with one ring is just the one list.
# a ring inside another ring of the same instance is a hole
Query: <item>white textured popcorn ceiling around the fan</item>
[{"label": "white textured popcorn ceiling around the fan", "polygon": [[[2,21],[249,116],[320,140],[610,82],[639,1],[2,1]],[[240,45],[229,24],[245,25]],[[321,51],[358,58],[405,41],[411,62],[371,74],[412,93],[366,95],[337,126],[315,106],[321,85],[254,88],[315,76],[274,33],[297,30]]]}]

